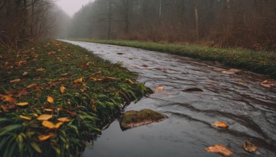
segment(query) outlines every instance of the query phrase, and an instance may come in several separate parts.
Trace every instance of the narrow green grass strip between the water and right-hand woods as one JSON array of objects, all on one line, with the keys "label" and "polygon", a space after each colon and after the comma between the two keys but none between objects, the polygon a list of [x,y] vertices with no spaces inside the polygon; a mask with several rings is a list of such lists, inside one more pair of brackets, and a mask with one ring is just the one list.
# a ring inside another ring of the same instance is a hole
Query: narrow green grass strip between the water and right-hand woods
[{"label": "narrow green grass strip between the water and right-hand woods", "polygon": [[259,74],[268,74],[276,78],[276,52],[258,52],[253,50],[237,50],[208,48],[198,45],[177,45],[168,43],[149,43],[141,41],[106,41],[91,39],[72,39],[93,43],[107,43],[112,45],[130,46],[158,52],[167,52],[188,56],[206,61],[218,61],[230,67],[237,67]]}]

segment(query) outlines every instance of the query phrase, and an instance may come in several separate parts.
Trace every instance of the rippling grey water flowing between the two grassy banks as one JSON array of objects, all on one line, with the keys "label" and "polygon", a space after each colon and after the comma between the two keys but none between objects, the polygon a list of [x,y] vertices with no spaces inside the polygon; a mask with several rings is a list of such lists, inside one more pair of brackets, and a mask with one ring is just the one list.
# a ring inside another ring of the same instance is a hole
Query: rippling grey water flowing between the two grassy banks
[{"label": "rippling grey water flowing between the two grassy banks", "polygon": [[[139,74],[139,82],[152,90],[149,98],[130,104],[126,110],[153,109],[168,119],[121,131],[114,121],[83,156],[218,156],[204,150],[221,144],[233,156],[276,156],[276,89],[261,85],[266,77],[227,69],[214,63],[151,52],[137,48],[68,41],[112,63]],[[181,92],[198,87],[204,92]],[[228,129],[210,124],[223,121]],[[249,154],[242,145],[251,140],[258,147]]]}]

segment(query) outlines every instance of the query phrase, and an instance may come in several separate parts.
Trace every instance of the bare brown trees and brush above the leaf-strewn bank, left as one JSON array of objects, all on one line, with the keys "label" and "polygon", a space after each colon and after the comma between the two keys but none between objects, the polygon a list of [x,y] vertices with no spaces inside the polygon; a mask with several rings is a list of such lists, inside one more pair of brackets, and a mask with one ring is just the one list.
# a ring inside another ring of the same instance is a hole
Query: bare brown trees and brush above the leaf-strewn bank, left
[{"label": "bare brown trees and brush above the leaf-strewn bank, left", "polygon": [[70,17],[50,0],[0,0],[0,44],[66,36]]}]

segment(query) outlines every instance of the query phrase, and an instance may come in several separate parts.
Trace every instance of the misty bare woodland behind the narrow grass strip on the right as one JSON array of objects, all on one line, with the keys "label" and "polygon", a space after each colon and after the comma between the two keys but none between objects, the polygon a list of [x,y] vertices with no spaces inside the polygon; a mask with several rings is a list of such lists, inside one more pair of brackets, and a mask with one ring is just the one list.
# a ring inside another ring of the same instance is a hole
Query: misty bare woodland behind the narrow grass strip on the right
[{"label": "misty bare woodland behind the narrow grass strip on the right", "polygon": [[95,0],[68,36],[276,50],[276,1]]}]

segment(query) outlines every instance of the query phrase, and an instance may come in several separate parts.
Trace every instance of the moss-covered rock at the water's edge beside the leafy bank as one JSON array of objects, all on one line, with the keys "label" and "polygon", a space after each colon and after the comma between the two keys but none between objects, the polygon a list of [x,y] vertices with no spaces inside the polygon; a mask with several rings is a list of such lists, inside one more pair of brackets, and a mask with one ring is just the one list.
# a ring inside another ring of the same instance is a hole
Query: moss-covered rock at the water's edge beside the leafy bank
[{"label": "moss-covered rock at the water's edge beside the leafy bank", "polygon": [[151,109],[142,109],[141,111],[128,111],[120,118],[121,129],[124,131],[132,127],[139,127],[141,125],[147,125],[163,121],[167,116]]}]

